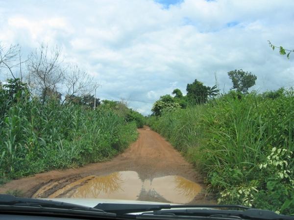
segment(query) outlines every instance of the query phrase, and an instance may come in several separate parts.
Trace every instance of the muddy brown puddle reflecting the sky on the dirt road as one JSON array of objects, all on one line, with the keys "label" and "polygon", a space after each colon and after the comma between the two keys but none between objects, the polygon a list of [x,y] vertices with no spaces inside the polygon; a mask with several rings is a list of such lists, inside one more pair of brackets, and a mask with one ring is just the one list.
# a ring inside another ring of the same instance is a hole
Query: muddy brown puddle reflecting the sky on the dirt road
[{"label": "muddy brown puddle reflecting the sky on the dirt road", "polygon": [[[40,198],[58,182],[40,188],[33,197]],[[137,172],[122,171],[107,176],[87,176],[56,190],[49,198],[110,198],[189,203],[201,186],[181,176],[162,176],[142,181]]]}]

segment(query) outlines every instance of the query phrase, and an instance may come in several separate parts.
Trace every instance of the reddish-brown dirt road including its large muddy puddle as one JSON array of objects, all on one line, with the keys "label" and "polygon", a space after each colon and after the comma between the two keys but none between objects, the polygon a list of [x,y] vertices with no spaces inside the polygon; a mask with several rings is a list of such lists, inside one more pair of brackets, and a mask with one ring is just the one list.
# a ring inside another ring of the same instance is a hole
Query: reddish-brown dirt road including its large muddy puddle
[{"label": "reddish-brown dirt road including its large muddy puddle", "polygon": [[158,133],[139,129],[139,138],[110,161],[50,171],[0,188],[36,198],[122,198],[174,203],[214,203],[204,197],[202,178]]}]

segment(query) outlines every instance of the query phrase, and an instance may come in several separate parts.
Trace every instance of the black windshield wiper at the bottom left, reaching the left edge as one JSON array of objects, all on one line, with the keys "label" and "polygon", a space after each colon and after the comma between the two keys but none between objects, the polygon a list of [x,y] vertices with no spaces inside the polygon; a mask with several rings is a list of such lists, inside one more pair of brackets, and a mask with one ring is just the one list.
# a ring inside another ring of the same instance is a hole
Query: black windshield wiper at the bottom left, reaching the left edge
[{"label": "black windshield wiper at the bottom left, reaching the left edge", "polygon": [[37,198],[18,198],[7,194],[0,194],[0,209],[6,207],[39,207],[39,208],[55,208],[55,209],[65,209],[67,211],[89,211],[96,212],[99,214],[105,214],[110,216],[115,216],[114,213],[108,213],[104,210],[100,210],[97,208],[91,208],[82,205],[71,204],[67,202],[59,202],[45,199],[37,199]]}]

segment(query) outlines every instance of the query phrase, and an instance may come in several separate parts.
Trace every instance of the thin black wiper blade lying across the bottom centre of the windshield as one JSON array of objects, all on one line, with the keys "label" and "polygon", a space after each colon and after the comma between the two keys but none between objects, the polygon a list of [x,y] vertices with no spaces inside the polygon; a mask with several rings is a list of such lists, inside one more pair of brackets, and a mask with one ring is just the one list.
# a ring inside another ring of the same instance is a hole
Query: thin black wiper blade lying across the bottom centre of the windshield
[{"label": "thin black wiper blade lying across the bottom centre of the windshield", "polygon": [[169,205],[169,204],[121,204],[121,203],[99,203],[94,208],[102,209],[106,212],[113,212],[116,214],[128,214],[136,212],[148,212],[161,209],[171,208],[235,208],[235,209],[249,209],[242,205]]}]

